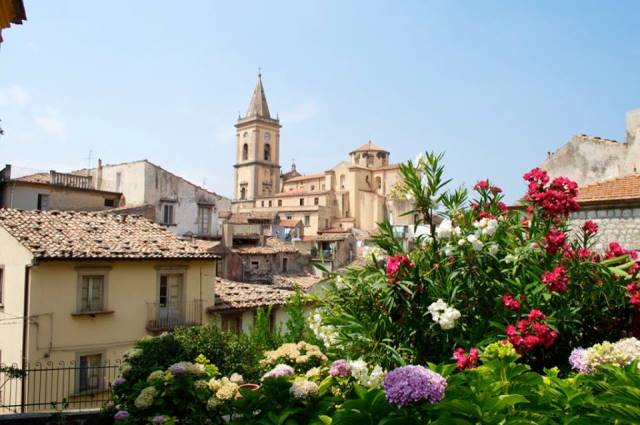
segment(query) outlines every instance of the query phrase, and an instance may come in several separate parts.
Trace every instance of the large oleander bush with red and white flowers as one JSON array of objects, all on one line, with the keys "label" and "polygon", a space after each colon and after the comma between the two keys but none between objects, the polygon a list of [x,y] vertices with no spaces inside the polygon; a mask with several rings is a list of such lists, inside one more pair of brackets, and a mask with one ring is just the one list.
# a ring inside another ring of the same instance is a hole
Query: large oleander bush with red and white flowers
[{"label": "large oleander bush with red and white flowers", "polygon": [[489,180],[472,194],[449,189],[441,155],[400,170],[394,193],[415,206],[415,243],[380,224],[367,267],[335,274],[319,309],[314,329],[329,329],[344,355],[391,368],[507,339],[541,371],[568,369],[575,347],[631,335],[640,263],[615,242],[595,252],[597,225],[568,220],[574,182],[534,169],[508,208]]}]

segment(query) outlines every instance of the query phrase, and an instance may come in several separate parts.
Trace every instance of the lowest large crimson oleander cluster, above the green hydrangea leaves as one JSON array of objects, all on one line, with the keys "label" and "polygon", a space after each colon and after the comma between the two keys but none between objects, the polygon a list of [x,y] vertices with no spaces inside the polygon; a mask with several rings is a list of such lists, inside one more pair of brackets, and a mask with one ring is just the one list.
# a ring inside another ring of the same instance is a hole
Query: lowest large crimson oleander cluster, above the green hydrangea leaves
[{"label": "lowest large crimson oleander cluster, above the green hydrangea leaves", "polygon": [[505,329],[509,342],[519,354],[538,347],[549,348],[558,337],[558,333],[543,323],[547,316],[537,309],[531,310],[526,319],[516,326],[508,325]]}]

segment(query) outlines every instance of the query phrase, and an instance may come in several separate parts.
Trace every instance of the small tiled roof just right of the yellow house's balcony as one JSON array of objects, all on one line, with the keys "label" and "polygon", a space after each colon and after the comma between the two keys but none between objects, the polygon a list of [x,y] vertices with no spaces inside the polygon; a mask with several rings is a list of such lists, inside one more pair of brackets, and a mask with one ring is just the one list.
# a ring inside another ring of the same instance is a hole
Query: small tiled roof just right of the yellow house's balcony
[{"label": "small tiled roof just right of the yellow house's balcony", "polygon": [[293,291],[268,284],[234,282],[218,278],[215,294],[215,304],[207,309],[210,313],[283,305]]}]

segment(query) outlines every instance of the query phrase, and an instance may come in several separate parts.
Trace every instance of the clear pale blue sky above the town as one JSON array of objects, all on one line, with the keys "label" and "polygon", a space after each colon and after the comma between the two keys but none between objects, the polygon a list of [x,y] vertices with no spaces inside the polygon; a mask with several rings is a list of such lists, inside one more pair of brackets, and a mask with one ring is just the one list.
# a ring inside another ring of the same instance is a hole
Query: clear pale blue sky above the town
[{"label": "clear pale blue sky above the town", "polygon": [[258,67],[281,162],[314,173],[371,139],[446,152],[508,199],[573,134],[640,108],[637,1],[36,1],[3,32],[0,163],[148,158],[230,194]]}]

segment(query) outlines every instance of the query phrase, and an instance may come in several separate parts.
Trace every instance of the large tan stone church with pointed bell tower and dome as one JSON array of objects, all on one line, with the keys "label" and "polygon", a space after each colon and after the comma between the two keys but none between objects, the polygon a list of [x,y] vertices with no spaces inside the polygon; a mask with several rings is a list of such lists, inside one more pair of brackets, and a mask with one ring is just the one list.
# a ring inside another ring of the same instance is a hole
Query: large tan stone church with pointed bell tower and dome
[{"label": "large tan stone church with pointed bell tower and dome", "polygon": [[390,153],[372,142],[327,171],[301,175],[293,165],[281,173],[281,125],[270,115],[260,75],[249,108],[235,127],[234,212],[258,210],[299,220],[305,237],[334,228],[375,231],[376,223],[385,219],[413,224],[413,217],[403,215],[410,204],[389,196],[402,179],[399,165],[390,163]]}]

